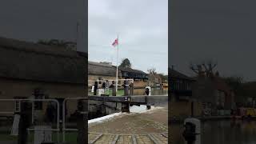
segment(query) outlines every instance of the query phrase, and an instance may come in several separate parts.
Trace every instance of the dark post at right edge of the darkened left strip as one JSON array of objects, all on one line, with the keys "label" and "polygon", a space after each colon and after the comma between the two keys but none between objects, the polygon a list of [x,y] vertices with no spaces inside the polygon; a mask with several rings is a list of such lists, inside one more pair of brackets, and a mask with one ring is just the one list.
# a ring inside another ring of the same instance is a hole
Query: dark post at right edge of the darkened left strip
[{"label": "dark post at right edge of the darkened left strip", "polygon": [[78,126],[78,144],[85,144],[88,142],[87,136],[87,114],[85,112],[88,111],[88,105],[85,100],[78,100],[78,111],[77,111],[77,126]]}]

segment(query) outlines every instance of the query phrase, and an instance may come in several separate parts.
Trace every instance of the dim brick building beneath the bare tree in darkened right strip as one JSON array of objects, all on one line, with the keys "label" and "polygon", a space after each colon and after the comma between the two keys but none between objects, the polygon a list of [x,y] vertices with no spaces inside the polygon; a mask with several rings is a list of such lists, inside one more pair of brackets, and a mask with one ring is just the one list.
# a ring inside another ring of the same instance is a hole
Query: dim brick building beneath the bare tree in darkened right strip
[{"label": "dim brick building beneath the bare tree in darkened right strip", "polygon": [[234,91],[218,74],[210,77],[200,75],[193,84],[193,97],[203,104],[205,113],[217,114],[217,110],[234,108]]}]

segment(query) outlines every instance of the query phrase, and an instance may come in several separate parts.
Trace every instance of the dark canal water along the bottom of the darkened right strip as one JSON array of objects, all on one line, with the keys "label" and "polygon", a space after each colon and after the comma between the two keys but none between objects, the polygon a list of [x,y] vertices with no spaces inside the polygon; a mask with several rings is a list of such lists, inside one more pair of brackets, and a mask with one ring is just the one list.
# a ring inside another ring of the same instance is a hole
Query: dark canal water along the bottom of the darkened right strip
[{"label": "dark canal water along the bottom of the darkened right strip", "polygon": [[[185,144],[182,124],[171,124],[171,143]],[[201,123],[202,144],[255,144],[256,121],[221,120]]]}]

